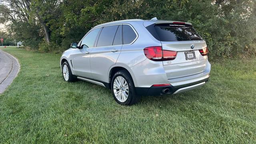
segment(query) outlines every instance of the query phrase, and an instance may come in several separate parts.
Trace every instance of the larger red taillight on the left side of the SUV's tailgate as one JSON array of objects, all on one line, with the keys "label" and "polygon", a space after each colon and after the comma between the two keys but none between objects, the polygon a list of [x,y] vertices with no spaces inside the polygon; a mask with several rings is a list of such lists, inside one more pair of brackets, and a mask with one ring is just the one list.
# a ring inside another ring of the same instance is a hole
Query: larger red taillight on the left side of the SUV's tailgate
[{"label": "larger red taillight on the left side of the SUV's tailgate", "polygon": [[174,60],[177,52],[170,50],[162,50],[162,46],[150,46],[144,48],[145,56],[153,61]]}]

